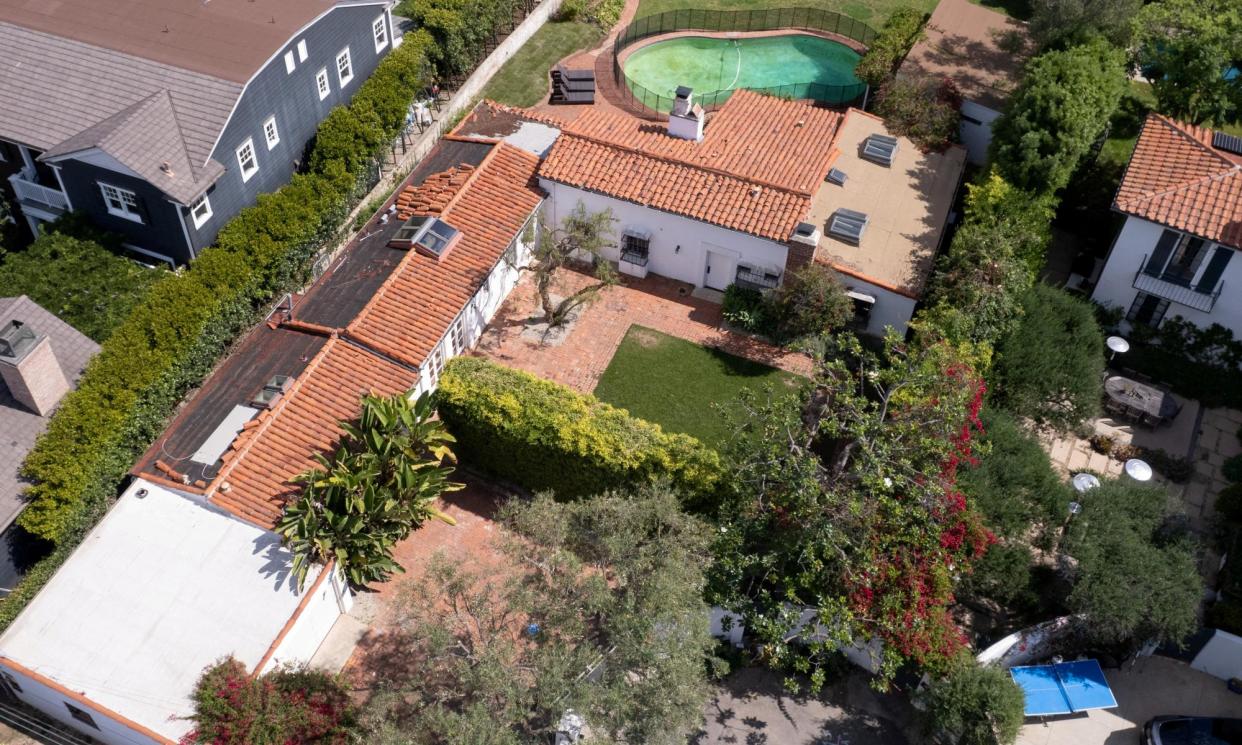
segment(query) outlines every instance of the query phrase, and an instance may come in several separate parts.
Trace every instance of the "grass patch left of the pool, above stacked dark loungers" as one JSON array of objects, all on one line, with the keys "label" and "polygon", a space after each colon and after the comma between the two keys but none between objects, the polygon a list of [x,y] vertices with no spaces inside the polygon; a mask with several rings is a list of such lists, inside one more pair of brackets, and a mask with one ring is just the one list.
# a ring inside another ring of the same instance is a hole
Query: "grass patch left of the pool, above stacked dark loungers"
[{"label": "grass patch left of the pool, above stacked dark loungers", "polygon": [[548,93],[548,71],[563,57],[586,50],[604,36],[595,24],[549,21],[530,37],[483,88],[483,97],[509,106],[534,106]]}]

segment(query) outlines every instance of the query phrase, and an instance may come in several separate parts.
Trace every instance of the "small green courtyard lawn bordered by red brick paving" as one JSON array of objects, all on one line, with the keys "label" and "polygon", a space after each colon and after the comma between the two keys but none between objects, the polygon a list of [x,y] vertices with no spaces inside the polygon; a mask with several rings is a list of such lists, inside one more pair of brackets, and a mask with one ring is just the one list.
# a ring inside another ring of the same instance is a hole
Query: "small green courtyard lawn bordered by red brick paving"
[{"label": "small green courtyard lawn bordered by red brick paving", "polygon": [[633,325],[621,340],[595,396],[668,432],[724,446],[732,430],[713,404],[729,406],[741,389],[792,392],[806,379],[732,354]]}]

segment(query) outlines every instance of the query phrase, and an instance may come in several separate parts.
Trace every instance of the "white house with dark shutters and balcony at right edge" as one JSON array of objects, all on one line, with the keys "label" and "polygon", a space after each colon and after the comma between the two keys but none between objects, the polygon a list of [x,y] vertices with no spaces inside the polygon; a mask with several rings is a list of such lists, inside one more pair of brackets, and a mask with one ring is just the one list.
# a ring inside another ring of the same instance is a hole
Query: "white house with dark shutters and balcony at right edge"
[{"label": "white house with dark shutters and balcony at right edge", "polygon": [[1093,300],[1242,336],[1242,138],[1148,114],[1113,210],[1125,224]]}]

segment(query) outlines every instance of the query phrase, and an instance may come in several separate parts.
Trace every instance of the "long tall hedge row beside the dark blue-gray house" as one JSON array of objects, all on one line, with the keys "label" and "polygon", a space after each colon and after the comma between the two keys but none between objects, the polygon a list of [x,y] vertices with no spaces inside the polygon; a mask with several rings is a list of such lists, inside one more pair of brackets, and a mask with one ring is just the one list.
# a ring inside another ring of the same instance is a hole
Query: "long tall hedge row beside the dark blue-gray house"
[{"label": "long tall hedge row beside the dark blue-gray house", "polygon": [[[312,145],[312,171],[242,210],[221,230],[216,246],[152,287],[102,345],[22,466],[31,485],[19,522],[57,549],[0,601],[0,626],[106,512],[127,469],[163,430],[181,395],[206,376],[261,308],[306,281],[310,260],[337,235],[358,196],[359,175],[399,133],[404,107],[397,119],[397,103],[407,106],[426,84],[427,45],[426,35],[407,35],[354,101],[322,123]],[[373,122],[375,129],[347,140],[340,122],[351,118]],[[332,158],[318,154],[320,140],[333,148]]]}]

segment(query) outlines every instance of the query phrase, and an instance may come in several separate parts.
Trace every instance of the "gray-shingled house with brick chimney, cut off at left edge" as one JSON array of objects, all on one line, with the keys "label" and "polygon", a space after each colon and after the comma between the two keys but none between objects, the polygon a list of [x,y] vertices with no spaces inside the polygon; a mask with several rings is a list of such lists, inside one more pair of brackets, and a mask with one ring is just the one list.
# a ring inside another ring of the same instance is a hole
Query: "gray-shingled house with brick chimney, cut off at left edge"
[{"label": "gray-shingled house with brick chimney, cut off at left edge", "polygon": [[0,530],[24,505],[17,473],[26,453],[97,351],[98,344],[26,296],[0,298]]}]

